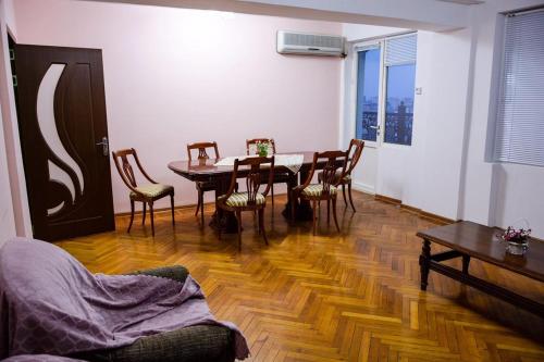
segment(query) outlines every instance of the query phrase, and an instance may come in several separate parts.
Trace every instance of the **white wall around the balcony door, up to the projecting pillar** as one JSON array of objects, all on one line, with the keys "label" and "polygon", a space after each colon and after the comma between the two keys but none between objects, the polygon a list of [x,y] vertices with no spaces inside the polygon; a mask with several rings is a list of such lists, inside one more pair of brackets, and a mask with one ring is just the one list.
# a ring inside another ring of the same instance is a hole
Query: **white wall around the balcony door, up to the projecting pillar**
[{"label": "white wall around the balcony door, up to the projecting pillar", "polygon": [[[345,24],[343,30],[348,39],[360,40],[409,29]],[[367,159],[363,155],[355,173],[356,184],[375,182],[376,194],[457,219],[470,35],[467,29],[418,32],[416,87],[421,87],[423,92],[416,95],[412,146],[383,143],[378,160],[369,157],[373,150],[367,149]],[[345,76],[349,78],[349,63],[345,65]],[[345,85],[341,125],[341,133],[345,136],[343,143],[355,135],[354,115],[349,112],[353,103],[346,96],[347,91],[349,86]],[[374,172],[376,176],[372,179]]]}]

